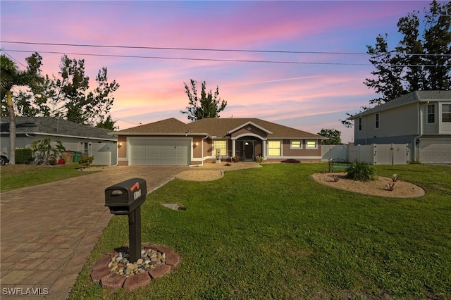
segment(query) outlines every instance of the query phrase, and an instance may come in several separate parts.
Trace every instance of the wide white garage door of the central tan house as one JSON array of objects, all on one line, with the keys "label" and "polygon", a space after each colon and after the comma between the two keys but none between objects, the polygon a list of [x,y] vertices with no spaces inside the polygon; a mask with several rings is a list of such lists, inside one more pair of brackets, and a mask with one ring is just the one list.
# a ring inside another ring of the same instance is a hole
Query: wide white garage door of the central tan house
[{"label": "wide white garage door of the central tan house", "polygon": [[130,165],[188,165],[189,140],[130,141]]}]

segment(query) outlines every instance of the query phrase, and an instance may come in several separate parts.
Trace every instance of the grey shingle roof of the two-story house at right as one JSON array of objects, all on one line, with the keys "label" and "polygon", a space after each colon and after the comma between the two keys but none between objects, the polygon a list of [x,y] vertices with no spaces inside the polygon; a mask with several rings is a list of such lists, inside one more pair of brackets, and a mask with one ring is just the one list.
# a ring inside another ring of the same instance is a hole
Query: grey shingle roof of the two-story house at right
[{"label": "grey shingle roof of the two-story house at right", "polygon": [[399,98],[393,99],[391,101],[385,102],[384,104],[379,104],[374,106],[367,111],[362,111],[362,113],[357,113],[356,115],[350,116],[347,120],[354,120],[355,118],[362,117],[363,115],[371,115],[371,113],[377,113],[378,111],[385,111],[390,108],[397,106],[403,106],[405,104],[410,104],[414,102],[426,102],[426,101],[439,101],[448,100],[451,101],[451,91],[415,91]]}]

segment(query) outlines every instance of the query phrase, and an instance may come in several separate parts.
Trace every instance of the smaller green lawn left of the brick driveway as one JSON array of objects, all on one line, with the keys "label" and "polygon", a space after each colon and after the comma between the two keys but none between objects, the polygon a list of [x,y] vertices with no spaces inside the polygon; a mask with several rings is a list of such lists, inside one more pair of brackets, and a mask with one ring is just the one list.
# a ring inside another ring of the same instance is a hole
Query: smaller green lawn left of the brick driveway
[{"label": "smaller green lawn left of the brick driveway", "polygon": [[87,174],[78,169],[82,165],[2,165],[0,167],[0,192],[63,180]]}]

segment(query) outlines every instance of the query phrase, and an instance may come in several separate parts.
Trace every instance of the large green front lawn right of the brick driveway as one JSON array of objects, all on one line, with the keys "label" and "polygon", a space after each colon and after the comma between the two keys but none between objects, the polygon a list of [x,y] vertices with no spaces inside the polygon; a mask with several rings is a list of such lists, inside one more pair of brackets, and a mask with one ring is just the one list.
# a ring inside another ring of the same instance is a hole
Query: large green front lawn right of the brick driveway
[{"label": "large green front lawn right of the brick driveway", "polygon": [[376,167],[426,189],[390,199],[312,181],[325,166],[267,164],[213,182],[169,182],[142,206],[142,242],[171,246],[178,268],[134,292],[94,284],[92,264],[128,243],[128,218],[116,215],[70,299],[450,299],[451,168]]}]

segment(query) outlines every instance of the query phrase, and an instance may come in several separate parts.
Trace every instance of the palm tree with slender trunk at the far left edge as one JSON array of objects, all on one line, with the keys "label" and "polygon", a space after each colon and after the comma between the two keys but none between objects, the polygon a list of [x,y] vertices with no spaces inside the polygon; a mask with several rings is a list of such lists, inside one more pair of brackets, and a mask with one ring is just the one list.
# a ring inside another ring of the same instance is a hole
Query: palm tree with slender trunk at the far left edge
[{"label": "palm tree with slender trunk at the far left edge", "polygon": [[27,70],[19,70],[16,63],[10,58],[0,56],[0,85],[1,85],[1,100],[4,104],[6,97],[7,109],[2,108],[2,115],[9,116],[9,163],[16,164],[16,114],[14,112],[14,103],[11,90],[16,86],[27,86],[30,89],[37,89],[43,82],[39,69],[42,65],[42,57],[35,53],[32,56],[25,58],[27,61]]}]

